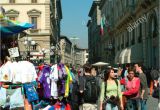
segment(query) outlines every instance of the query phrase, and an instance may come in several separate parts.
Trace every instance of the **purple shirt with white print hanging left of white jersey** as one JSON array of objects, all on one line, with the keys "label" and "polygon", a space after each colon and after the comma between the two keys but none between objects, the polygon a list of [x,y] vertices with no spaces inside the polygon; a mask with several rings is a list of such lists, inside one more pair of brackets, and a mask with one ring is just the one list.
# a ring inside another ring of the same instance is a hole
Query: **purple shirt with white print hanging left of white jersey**
[{"label": "purple shirt with white print hanging left of white jersey", "polygon": [[51,97],[51,80],[50,80],[50,66],[45,66],[42,70],[42,77],[40,78],[39,82],[43,85],[44,88],[44,97],[50,98]]}]

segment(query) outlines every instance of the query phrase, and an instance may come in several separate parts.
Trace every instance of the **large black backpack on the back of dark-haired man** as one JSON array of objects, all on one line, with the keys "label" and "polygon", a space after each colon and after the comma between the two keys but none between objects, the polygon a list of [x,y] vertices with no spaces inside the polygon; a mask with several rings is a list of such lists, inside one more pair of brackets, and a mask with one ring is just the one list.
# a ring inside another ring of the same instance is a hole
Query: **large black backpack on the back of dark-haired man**
[{"label": "large black backpack on the back of dark-haired man", "polygon": [[98,100],[100,88],[97,77],[84,78],[84,102],[85,103],[96,103]]}]

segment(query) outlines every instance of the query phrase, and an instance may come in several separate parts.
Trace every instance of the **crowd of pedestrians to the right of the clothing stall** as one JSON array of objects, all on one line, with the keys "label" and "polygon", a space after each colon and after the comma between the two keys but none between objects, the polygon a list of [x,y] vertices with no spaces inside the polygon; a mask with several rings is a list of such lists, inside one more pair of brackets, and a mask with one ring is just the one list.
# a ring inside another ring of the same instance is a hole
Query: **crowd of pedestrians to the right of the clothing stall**
[{"label": "crowd of pedestrians to the right of the clothing stall", "polygon": [[[79,78],[79,92],[81,95],[80,110],[147,110],[149,95],[159,99],[159,72],[152,71],[153,86],[149,94],[146,74],[139,63],[126,65],[118,70],[109,67],[103,75],[97,75],[90,64],[83,66],[84,74]],[[97,82],[96,82],[97,80]],[[160,80],[160,78],[159,78]],[[157,105],[157,110],[158,108]],[[78,109],[78,108],[77,108]]]}]

